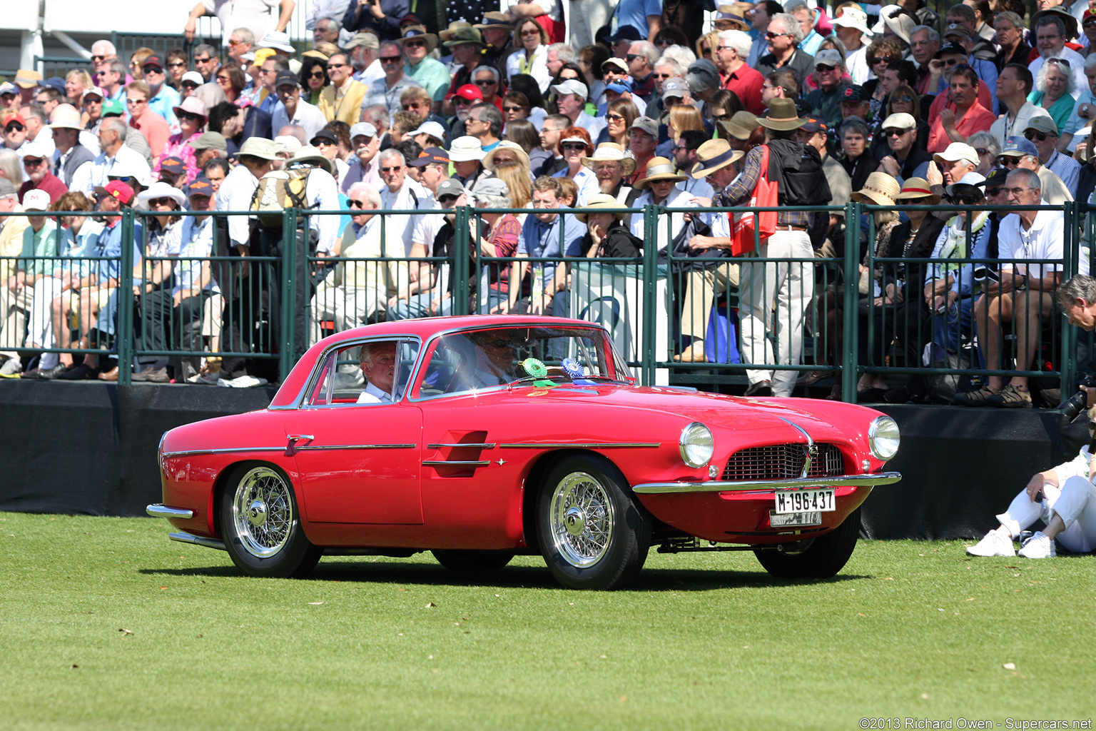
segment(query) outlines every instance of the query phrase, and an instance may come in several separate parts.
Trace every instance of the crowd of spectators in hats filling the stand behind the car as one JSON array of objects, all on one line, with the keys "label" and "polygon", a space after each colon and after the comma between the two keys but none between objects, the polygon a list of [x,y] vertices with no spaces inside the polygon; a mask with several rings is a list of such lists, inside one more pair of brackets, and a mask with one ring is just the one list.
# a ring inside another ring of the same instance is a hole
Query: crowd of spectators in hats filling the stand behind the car
[{"label": "crowd of spectators in hats filling the stand behind the car", "polygon": [[[216,354],[302,352],[332,330],[454,311],[461,206],[473,208],[473,311],[569,315],[562,260],[636,260],[644,241],[663,259],[703,260],[675,270],[674,359],[710,361],[713,305],[737,297],[742,355],[758,366],[749,395],[790,395],[797,370],[765,368],[799,365],[808,335],[817,363],[838,365],[847,287],[859,294],[861,363],[948,363],[977,343],[980,365],[1007,367],[1007,323],[1025,370],[1071,238],[1061,212],[1028,208],[1096,187],[1087,0],[1040,0],[1029,18],[1017,0],[967,0],[943,16],[923,0],[713,13],[620,0],[580,49],[566,42],[561,0],[415,12],[406,0],[317,0],[309,44],[285,33],[293,0],[265,4],[253,16],[195,5],[187,39],[210,13],[225,28],[215,44],[123,58],[99,41],[65,78],[21,70],[0,84],[0,376],[116,380],[116,359],[30,356],[110,351],[133,302],[142,355],[121,367],[134,380],[262,384],[262,364]],[[732,258],[753,216],[707,208],[750,204],[761,180],[780,183],[781,206],[1016,210],[880,209],[860,221],[780,210],[775,233]],[[304,216],[286,241],[284,203],[343,215]],[[648,204],[696,212],[648,231],[642,216],[598,210]],[[145,212],[133,241],[118,225],[126,207]],[[528,213],[475,210],[510,207]],[[3,215],[22,212],[33,215]],[[840,267],[823,275],[811,261],[843,256],[848,230],[860,232],[859,279],[834,281]],[[132,297],[118,292],[126,248]],[[918,256],[937,261],[868,267]],[[283,276],[296,283],[289,343]],[[874,370],[857,388],[905,400],[917,397],[910,380]],[[975,386],[955,398],[1032,403],[1023,377]]]}]

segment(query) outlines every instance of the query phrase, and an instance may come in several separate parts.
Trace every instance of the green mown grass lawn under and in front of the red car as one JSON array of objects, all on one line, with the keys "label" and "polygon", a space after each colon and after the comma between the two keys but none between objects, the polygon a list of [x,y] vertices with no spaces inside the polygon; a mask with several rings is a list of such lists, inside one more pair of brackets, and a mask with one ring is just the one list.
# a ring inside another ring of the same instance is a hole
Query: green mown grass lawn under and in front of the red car
[{"label": "green mown grass lawn under and in front of the red car", "polygon": [[652,552],[629,589],[583,593],[537,557],[247,579],[168,529],[0,513],[0,728],[959,728],[1096,707],[1093,557],[861,540],[812,583]]}]

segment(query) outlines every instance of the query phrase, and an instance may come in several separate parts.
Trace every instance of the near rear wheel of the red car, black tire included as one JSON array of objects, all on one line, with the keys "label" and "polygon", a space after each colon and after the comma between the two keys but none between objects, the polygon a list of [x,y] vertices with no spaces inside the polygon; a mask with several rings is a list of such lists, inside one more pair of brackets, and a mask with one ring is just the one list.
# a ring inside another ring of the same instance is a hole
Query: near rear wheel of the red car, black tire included
[{"label": "near rear wheel of the red car, black tire included", "polygon": [[249,576],[302,579],[323,555],[300,527],[289,478],[273,465],[240,465],[220,498],[225,548]]}]

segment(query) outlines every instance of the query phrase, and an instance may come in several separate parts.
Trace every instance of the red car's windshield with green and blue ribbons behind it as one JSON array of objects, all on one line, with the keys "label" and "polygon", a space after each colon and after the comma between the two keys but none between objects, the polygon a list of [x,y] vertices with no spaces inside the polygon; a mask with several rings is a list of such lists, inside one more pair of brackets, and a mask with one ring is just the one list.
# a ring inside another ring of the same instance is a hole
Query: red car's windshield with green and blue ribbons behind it
[{"label": "red car's windshield with green and blue ribbons behind it", "polygon": [[439,338],[426,358],[418,397],[628,379],[627,367],[615,357],[602,330],[492,328]]}]

